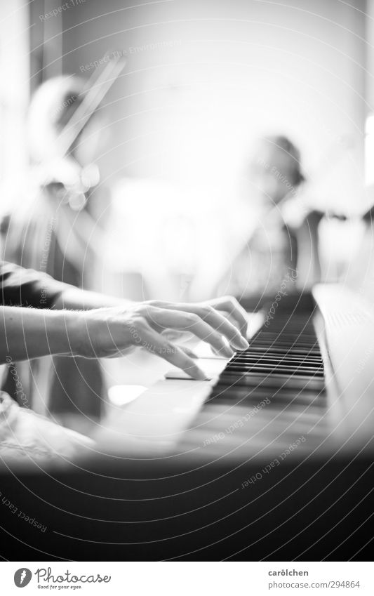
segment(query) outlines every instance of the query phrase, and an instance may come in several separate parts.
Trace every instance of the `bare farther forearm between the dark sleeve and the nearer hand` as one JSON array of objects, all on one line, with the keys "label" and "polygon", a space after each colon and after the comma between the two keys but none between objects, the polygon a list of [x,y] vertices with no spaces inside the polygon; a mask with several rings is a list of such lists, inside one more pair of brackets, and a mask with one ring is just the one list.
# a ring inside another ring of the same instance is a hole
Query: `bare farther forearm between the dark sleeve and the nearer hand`
[{"label": "bare farther forearm between the dark sleeve and the nearer hand", "polygon": [[98,292],[80,290],[74,286],[63,284],[63,290],[53,306],[53,310],[92,310],[111,306],[131,306],[131,300],[106,296]]}]

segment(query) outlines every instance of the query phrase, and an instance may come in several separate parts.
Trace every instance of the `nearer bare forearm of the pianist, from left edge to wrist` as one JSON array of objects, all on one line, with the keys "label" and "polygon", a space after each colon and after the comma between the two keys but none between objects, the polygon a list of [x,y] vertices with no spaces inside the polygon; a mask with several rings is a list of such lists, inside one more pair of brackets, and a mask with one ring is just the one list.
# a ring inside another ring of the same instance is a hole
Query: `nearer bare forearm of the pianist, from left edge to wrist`
[{"label": "nearer bare forearm of the pianist, from left edge to wrist", "polygon": [[79,313],[8,306],[0,311],[0,363],[78,354]]}]

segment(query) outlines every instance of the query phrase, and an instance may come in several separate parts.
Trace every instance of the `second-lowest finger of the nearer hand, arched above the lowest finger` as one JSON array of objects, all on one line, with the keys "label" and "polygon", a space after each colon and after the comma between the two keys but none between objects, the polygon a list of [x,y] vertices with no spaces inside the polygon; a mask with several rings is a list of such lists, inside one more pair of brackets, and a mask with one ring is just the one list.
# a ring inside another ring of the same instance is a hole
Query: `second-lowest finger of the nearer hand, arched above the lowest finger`
[{"label": "second-lowest finger of the nearer hand, arched above the lowest finger", "polygon": [[156,329],[159,327],[171,329],[181,329],[182,331],[191,331],[194,335],[207,343],[210,343],[220,352],[222,356],[231,358],[234,352],[225,343],[222,335],[215,331],[213,327],[204,322],[198,314],[193,312],[183,312],[166,308],[154,308],[149,311],[147,322]]}]

